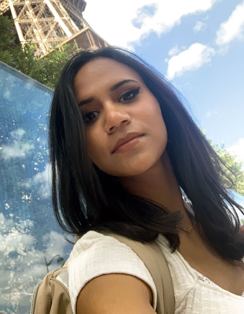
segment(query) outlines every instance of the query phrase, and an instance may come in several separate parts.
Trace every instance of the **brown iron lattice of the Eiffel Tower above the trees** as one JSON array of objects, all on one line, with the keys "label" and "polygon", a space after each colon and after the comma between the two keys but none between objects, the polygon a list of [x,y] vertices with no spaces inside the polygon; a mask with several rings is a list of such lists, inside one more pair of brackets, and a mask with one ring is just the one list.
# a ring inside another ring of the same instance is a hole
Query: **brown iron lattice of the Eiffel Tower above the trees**
[{"label": "brown iron lattice of the Eiffel Tower above the trees", "polygon": [[0,0],[0,14],[12,15],[19,41],[31,39],[41,56],[53,44],[59,49],[74,42],[81,49],[108,46],[83,18],[85,7],[84,0]]}]

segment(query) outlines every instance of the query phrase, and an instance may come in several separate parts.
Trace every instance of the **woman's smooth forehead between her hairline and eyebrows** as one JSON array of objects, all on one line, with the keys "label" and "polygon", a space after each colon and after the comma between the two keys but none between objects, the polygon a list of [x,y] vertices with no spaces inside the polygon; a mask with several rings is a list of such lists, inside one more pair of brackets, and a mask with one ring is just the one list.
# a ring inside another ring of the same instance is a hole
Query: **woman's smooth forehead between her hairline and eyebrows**
[{"label": "woman's smooth forehead between her hairline and eyebrows", "polygon": [[128,78],[143,82],[140,75],[127,65],[110,58],[97,57],[78,70],[74,77],[74,89],[79,95],[89,94]]}]

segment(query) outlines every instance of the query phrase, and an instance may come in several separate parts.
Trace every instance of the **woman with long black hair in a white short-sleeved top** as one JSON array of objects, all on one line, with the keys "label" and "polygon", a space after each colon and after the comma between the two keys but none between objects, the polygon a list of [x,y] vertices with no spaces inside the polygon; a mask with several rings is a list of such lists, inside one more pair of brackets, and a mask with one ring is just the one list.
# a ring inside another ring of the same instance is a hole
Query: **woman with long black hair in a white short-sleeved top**
[{"label": "woman with long black hair in a white short-sleeved top", "polygon": [[49,123],[55,215],[81,236],[68,263],[74,313],[155,313],[150,273],[99,233],[106,229],[158,241],[176,314],[244,312],[243,208],[226,188],[224,162],[159,72],[118,47],[78,52]]}]

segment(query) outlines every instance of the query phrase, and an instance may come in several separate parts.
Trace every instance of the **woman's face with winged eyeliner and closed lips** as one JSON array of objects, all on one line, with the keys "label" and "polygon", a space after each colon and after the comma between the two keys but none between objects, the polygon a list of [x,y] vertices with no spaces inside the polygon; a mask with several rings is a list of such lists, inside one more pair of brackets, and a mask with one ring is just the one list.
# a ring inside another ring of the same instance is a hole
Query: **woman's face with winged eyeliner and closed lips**
[{"label": "woman's face with winged eyeliner and closed lips", "polygon": [[[129,81],[118,84],[125,80]],[[98,57],[79,69],[74,90],[85,115],[87,151],[101,171],[135,176],[157,163],[166,147],[167,131],[159,103],[138,73]],[[127,151],[112,153],[117,140],[131,132],[144,135]]]}]

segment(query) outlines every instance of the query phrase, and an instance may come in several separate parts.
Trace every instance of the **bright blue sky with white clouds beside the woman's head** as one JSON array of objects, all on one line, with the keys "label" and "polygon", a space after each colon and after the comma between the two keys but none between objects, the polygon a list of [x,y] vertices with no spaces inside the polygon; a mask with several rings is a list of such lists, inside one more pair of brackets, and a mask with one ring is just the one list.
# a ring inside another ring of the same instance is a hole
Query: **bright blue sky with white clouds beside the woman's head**
[{"label": "bright blue sky with white clouds beside the woman's head", "polygon": [[244,169],[244,1],[86,2],[93,30],[169,79],[207,138],[224,143]]}]

